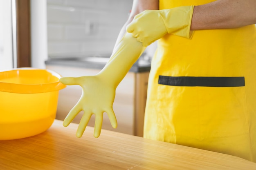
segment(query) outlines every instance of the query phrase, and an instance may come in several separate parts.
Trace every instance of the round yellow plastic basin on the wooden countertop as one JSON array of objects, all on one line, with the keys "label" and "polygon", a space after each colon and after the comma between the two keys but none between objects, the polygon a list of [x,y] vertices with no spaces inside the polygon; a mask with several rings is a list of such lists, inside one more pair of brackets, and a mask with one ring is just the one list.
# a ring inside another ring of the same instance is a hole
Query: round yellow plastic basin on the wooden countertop
[{"label": "round yellow plastic basin on the wooden countertop", "polygon": [[0,72],[0,140],[34,136],[52,125],[58,92],[66,87],[59,78],[47,69]]}]

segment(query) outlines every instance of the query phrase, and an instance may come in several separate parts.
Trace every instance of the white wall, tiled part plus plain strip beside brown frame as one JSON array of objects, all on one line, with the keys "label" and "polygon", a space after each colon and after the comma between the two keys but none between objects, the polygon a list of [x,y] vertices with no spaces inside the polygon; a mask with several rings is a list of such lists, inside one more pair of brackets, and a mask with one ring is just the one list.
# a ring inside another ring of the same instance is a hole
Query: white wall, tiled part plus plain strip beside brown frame
[{"label": "white wall, tiled part plus plain strip beside brown frame", "polygon": [[110,55],[131,7],[132,0],[31,0],[32,67],[45,68],[49,56]]}]

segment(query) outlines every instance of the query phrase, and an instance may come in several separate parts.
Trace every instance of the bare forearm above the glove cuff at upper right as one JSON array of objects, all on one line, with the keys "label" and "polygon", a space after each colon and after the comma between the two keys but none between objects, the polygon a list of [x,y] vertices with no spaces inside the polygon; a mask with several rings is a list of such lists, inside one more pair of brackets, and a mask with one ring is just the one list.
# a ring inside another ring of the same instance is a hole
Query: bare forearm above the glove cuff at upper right
[{"label": "bare forearm above the glove cuff at upper right", "polygon": [[237,28],[256,23],[256,0],[216,0],[195,6],[191,30]]}]

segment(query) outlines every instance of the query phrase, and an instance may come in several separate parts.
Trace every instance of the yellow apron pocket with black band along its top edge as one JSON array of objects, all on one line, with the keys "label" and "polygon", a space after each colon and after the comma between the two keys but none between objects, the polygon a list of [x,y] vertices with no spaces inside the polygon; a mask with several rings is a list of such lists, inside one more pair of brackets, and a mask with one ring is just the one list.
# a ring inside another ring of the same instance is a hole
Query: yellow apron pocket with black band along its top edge
[{"label": "yellow apron pocket with black band along its top edge", "polygon": [[157,99],[164,136],[203,140],[249,132],[244,77],[159,76]]}]

